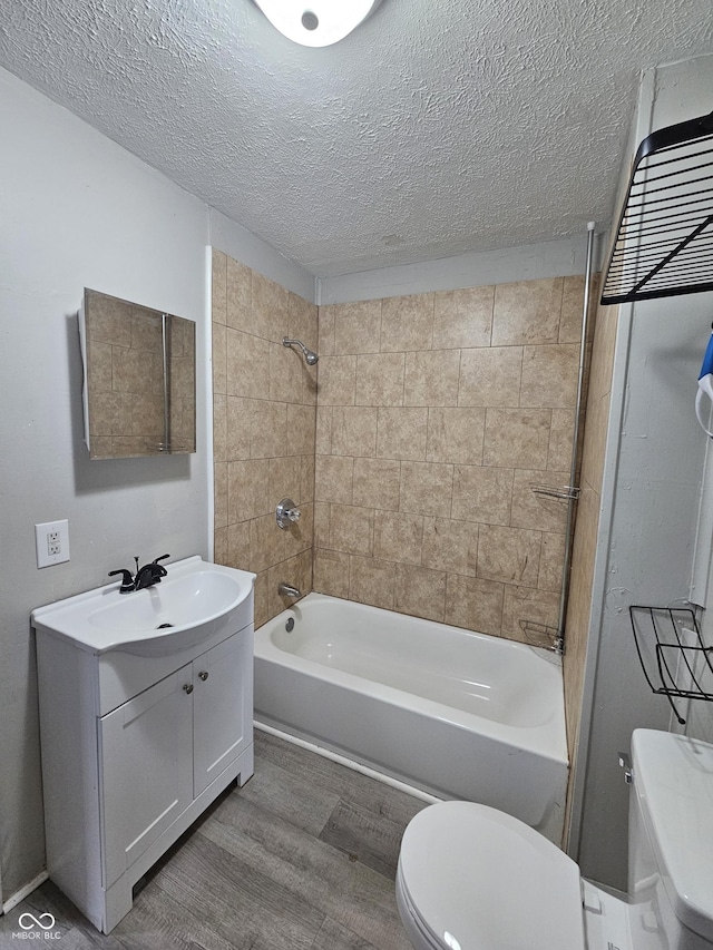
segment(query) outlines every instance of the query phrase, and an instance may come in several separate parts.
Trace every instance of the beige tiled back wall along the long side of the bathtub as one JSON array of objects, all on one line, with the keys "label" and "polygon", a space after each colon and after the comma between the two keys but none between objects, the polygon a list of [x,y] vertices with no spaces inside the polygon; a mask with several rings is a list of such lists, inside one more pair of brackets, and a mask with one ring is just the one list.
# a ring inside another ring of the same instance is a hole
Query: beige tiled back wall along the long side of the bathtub
[{"label": "beige tiled back wall along the long side of the bathtub", "polygon": [[314,589],[556,625],[584,278],[320,307]]}]

